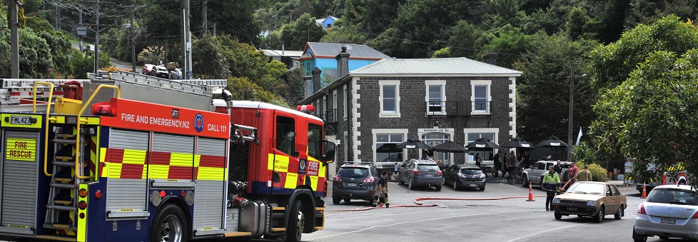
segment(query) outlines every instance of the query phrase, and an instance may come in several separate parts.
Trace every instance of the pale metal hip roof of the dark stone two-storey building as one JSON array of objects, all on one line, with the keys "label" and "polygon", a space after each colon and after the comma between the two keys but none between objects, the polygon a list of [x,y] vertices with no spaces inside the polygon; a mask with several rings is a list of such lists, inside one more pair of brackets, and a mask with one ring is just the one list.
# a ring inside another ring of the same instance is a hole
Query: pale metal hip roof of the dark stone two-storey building
[{"label": "pale metal hip roof of the dark stone two-storey building", "polygon": [[351,76],[521,76],[521,71],[474,61],[465,57],[440,59],[383,59],[350,71]]}]

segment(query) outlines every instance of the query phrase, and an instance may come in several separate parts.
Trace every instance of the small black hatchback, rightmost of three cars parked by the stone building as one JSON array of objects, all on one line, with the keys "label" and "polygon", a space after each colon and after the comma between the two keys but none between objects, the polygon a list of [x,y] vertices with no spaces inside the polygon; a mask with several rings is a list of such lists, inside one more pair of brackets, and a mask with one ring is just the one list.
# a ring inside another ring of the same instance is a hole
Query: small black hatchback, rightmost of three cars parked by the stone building
[{"label": "small black hatchback, rightmost of three cars parked by the stone building", "polygon": [[467,164],[455,164],[448,168],[443,174],[444,182],[451,184],[453,190],[460,188],[480,188],[485,191],[485,173],[478,166]]}]

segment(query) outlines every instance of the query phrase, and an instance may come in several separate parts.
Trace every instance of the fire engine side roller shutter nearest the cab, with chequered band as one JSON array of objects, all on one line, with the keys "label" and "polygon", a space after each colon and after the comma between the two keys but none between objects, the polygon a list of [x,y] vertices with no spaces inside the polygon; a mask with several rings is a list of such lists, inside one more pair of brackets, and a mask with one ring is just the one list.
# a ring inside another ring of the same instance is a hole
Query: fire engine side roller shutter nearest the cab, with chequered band
[{"label": "fire engine side roller shutter nearest the cab, with chequered band", "polygon": [[[196,193],[194,196],[193,229],[197,235],[203,228],[223,228],[226,207],[226,140],[201,138],[196,141]],[[213,233],[213,231],[211,231]]]}]

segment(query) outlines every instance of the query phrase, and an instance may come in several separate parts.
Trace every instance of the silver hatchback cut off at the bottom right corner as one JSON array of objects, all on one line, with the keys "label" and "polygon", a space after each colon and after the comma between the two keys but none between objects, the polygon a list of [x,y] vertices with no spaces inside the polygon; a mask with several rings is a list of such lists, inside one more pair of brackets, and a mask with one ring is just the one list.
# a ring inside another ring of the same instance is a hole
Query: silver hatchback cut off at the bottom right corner
[{"label": "silver hatchback cut off at the bottom right corner", "polygon": [[691,186],[657,186],[637,208],[632,229],[634,241],[647,236],[687,238],[698,241],[698,201]]}]

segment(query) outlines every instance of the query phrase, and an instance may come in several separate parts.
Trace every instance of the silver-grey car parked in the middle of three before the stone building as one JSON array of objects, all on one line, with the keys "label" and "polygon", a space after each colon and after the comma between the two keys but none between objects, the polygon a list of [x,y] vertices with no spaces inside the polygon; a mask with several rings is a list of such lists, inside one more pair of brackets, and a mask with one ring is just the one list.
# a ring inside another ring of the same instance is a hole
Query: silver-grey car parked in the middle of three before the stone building
[{"label": "silver-grey car parked in the middle of three before the stone building", "polygon": [[435,161],[412,159],[400,167],[398,181],[400,185],[408,183],[410,190],[416,186],[433,186],[441,191],[443,172]]}]

